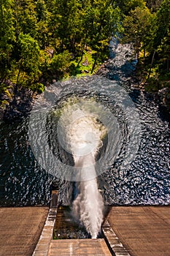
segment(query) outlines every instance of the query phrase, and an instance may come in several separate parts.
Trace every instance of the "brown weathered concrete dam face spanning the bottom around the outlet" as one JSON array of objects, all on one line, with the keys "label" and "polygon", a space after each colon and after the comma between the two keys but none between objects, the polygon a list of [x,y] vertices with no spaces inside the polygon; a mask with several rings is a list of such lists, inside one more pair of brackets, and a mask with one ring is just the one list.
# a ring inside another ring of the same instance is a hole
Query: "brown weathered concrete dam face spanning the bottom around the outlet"
[{"label": "brown weathered concrete dam face spanning the bottom around the outlet", "polygon": [[[0,255],[110,255],[104,239],[51,240],[56,215],[55,206],[51,207],[54,212],[49,213],[48,207],[0,208]],[[49,226],[43,233],[45,221]],[[107,221],[116,235],[107,234],[117,255],[170,256],[170,206],[113,206]],[[39,245],[42,250],[34,251]]]}]

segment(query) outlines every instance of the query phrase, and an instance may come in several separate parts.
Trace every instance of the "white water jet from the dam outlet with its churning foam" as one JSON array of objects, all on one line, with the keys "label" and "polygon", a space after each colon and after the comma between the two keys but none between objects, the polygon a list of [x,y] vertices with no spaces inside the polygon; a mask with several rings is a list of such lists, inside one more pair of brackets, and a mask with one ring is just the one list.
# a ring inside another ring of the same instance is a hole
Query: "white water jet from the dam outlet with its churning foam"
[{"label": "white water jet from the dam outlet with its churning foam", "polygon": [[80,220],[92,238],[97,238],[103,221],[104,201],[98,191],[97,179],[89,180],[96,174],[95,158],[101,148],[102,138],[107,130],[93,113],[94,104],[90,99],[85,102],[68,106],[63,111],[61,123],[67,126],[66,138],[63,143],[67,151],[74,157],[74,167],[77,170],[78,195],[72,204],[74,217]]}]

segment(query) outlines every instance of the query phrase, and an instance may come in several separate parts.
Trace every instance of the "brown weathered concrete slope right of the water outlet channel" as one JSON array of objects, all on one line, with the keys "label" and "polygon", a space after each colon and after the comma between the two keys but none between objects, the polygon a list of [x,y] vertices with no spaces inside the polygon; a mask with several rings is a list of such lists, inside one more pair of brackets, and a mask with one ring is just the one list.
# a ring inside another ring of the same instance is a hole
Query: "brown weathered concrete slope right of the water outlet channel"
[{"label": "brown weathered concrete slope right of the water outlet channel", "polygon": [[170,206],[117,206],[109,225],[131,256],[170,255]]}]

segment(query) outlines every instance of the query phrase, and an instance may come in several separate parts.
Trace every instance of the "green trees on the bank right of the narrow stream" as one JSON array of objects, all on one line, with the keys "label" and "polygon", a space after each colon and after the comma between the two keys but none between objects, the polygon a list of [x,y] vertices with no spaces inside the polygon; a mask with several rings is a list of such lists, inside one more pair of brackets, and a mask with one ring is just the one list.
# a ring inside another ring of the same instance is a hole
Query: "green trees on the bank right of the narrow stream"
[{"label": "green trees on the bank right of the narrow stream", "polygon": [[133,42],[139,77],[155,93],[170,79],[170,0],[120,2],[125,8],[123,42]]}]

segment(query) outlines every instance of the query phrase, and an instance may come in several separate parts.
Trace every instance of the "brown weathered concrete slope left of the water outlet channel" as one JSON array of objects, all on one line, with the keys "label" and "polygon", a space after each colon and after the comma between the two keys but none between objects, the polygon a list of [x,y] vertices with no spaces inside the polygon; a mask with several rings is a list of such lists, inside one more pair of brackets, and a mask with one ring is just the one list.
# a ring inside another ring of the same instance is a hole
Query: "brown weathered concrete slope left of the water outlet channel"
[{"label": "brown weathered concrete slope left of the water outlet channel", "polygon": [[0,208],[0,255],[31,256],[42,233],[48,207]]}]

